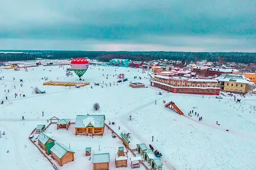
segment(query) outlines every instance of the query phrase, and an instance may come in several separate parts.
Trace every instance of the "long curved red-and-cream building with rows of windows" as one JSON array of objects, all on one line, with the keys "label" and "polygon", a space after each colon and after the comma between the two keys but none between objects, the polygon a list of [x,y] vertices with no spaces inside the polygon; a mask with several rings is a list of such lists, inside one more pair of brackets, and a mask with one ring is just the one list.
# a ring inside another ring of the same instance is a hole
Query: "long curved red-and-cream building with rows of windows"
[{"label": "long curved red-and-cream building with rows of windows", "polygon": [[173,93],[205,95],[220,94],[218,81],[214,79],[195,79],[156,75],[154,80],[150,81],[150,85]]}]

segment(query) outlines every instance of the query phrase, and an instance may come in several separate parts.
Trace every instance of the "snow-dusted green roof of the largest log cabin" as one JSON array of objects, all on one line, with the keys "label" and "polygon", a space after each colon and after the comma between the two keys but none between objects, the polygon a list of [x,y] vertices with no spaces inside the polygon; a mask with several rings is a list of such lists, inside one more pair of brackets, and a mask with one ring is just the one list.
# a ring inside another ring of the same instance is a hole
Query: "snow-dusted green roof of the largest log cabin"
[{"label": "snow-dusted green roof of the largest log cabin", "polygon": [[93,127],[104,127],[105,115],[77,115],[75,127],[87,127],[92,124]]}]

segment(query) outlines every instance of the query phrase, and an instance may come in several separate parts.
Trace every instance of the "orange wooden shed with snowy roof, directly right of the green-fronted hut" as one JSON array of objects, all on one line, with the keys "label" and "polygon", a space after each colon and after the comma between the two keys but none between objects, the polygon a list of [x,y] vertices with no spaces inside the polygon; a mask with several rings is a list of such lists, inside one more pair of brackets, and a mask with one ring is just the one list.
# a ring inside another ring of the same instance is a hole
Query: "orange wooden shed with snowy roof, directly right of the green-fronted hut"
[{"label": "orange wooden shed with snowy roof, directly right of the green-fronted hut", "polygon": [[51,156],[60,166],[67,164],[68,162],[74,161],[74,151],[67,148],[67,146],[60,143],[56,143],[51,148]]}]

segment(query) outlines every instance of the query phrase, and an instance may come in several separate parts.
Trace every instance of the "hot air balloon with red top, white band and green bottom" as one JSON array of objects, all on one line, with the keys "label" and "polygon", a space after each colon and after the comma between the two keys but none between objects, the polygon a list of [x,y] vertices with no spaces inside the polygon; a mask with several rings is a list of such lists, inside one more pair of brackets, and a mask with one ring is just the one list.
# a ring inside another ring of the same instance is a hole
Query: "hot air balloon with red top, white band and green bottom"
[{"label": "hot air balloon with red top, white band and green bottom", "polygon": [[89,67],[88,60],[83,58],[77,58],[73,59],[70,64],[73,71],[77,74],[77,76],[79,76],[79,80],[82,80],[81,76],[83,76],[83,74],[87,71]]}]

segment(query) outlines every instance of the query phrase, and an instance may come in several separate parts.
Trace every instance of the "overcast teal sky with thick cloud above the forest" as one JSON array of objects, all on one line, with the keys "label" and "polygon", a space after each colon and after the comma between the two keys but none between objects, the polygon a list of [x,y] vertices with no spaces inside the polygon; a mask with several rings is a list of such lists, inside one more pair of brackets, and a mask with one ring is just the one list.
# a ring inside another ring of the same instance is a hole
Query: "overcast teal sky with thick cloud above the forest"
[{"label": "overcast teal sky with thick cloud above the forest", "polygon": [[256,52],[256,0],[0,0],[0,49]]}]

